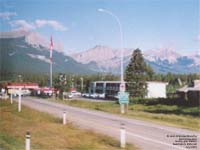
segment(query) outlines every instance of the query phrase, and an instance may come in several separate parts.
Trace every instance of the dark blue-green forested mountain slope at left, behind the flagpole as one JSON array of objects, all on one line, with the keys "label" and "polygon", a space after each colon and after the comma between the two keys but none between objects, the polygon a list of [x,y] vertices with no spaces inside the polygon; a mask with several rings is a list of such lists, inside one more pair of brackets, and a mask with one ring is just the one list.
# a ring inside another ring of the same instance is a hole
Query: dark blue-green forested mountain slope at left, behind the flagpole
[{"label": "dark blue-green forested mountain slope at left, behind the flagpole", "polygon": [[[49,72],[49,49],[33,43],[27,36],[11,35],[0,38],[0,72]],[[87,65],[75,61],[58,50],[53,50],[53,72],[94,73]]]}]

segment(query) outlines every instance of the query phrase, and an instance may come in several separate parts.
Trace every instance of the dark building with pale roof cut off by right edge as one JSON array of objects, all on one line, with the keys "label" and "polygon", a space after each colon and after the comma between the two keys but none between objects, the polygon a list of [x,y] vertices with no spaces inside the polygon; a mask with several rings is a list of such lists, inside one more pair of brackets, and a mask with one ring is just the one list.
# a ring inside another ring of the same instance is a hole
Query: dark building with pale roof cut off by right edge
[{"label": "dark building with pale roof cut off by right edge", "polygon": [[184,86],[176,90],[178,96],[185,100],[200,102],[200,80],[194,80],[191,86]]}]

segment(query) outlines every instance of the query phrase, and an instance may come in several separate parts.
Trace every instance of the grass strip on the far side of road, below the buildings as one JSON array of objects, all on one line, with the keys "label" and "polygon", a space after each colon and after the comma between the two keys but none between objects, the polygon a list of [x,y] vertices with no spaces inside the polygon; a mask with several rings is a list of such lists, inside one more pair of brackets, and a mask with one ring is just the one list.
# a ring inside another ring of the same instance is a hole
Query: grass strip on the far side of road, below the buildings
[{"label": "grass strip on the far side of road, below the buildings", "polygon": [[[54,102],[64,103],[70,106],[99,110],[114,114],[120,114],[119,104],[116,102],[91,102],[83,100],[51,100]],[[129,105],[127,114],[121,115],[129,118],[147,120],[159,124],[186,128],[191,130],[200,129],[199,107],[179,107],[176,105]]]}]

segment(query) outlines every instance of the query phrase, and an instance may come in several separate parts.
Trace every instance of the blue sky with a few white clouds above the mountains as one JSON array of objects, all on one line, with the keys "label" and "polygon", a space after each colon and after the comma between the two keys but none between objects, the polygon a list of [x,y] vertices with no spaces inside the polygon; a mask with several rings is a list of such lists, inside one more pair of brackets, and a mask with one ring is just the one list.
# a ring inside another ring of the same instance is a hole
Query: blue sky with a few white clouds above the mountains
[{"label": "blue sky with a few white clouds above the mountains", "polygon": [[61,42],[65,53],[105,45],[200,50],[199,0],[0,0],[0,31],[25,28]]}]

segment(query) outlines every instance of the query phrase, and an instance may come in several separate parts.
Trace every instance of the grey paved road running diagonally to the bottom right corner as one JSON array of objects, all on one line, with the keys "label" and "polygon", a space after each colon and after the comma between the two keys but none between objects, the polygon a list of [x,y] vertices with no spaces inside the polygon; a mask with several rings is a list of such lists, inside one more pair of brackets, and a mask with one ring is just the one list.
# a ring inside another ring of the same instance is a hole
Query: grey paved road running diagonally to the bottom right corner
[{"label": "grey paved road running diagonally to the bottom right corner", "polygon": [[[173,136],[193,136],[193,138],[196,139],[195,136],[198,134],[197,142],[198,146],[200,145],[200,132],[162,126],[135,119],[128,119],[105,112],[66,106],[38,98],[25,97],[22,99],[22,104],[39,111],[47,112],[56,117],[62,117],[63,111],[66,110],[68,120],[75,125],[78,125],[81,128],[91,129],[95,132],[103,133],[117,139],[119,139],[120,135],[120,124],[124,123],[127,141],[144,150],[186,149],[185,146],[173,145],[175,140],[179,139],[178,137]],[[188,138],[191,139],[192,137],[187,137],[187,139]],[[190,150],[198,148],[190,148]]]}]

